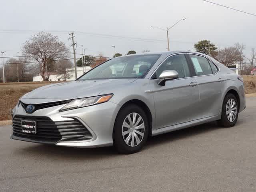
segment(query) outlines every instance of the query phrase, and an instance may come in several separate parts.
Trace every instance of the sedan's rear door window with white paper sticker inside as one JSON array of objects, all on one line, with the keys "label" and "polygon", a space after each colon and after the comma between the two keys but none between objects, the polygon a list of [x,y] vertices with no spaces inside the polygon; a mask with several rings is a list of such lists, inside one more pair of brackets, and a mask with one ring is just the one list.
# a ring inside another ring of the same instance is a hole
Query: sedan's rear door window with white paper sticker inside
[{"label": "sedan's rear door window with white paper sticker inside", "polygon": [[208,62],[208,59],[202,56],[192,54],[190,54],[190,58],[194,66],[196,76],[212,74],[212,69]]}]

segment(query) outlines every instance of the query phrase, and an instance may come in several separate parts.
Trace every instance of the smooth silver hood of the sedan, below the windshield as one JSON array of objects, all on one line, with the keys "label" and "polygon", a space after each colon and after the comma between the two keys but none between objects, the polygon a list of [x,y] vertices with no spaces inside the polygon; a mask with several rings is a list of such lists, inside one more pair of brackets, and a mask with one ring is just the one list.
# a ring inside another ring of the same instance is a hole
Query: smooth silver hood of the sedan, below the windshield
[{"label": "smooth silver hood of the sedan, below the windshield", "polygon": [[59,100],[69,100],[97,96],[101,92],[124,86],[136,81],[136,79],[108,79],[108,80],[86,80],[72,81],[42,86],[22,96],[21,101],[25,103],[44,103]]}]

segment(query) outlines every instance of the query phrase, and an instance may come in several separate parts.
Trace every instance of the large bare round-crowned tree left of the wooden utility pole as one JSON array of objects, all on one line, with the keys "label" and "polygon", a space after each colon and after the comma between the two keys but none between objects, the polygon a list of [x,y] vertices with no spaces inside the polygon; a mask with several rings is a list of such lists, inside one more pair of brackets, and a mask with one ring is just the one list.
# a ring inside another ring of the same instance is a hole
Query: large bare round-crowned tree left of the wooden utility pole
[{"label": "large bare round-crowned tree left of the wooden utility pole", "polygon": [[68,48],[60,42],[57,36],[40,32],[24,43],[22,52],[25,56],[39,62],[39,73],[43,80],[48,80],[45,76],[46,67],[50,68],[54,59],[64,58],[64,54],[68,53]]}]

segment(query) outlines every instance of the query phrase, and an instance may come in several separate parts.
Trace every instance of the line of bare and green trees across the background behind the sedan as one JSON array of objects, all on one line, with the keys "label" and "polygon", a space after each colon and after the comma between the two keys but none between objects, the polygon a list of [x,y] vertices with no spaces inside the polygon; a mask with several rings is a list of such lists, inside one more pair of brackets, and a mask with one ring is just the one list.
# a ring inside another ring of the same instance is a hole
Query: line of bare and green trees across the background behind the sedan
[{"label": "line of bare and green trees across the background behind the sedan", "polygon": [[[256,52],[254,48],[251,50],[249,57],[244,55],[246,46],[244,44],[236,43],[234,46],[218,49],[210,40],[201,40],[194,44],[197,52],[210,55],[225,66],[235,63],[242,64],[241,74],[250,74],[250,71],[256,62]],[[62,75],[66,80],[70,77],[68,68],[72,68],[74,64],[70,61],[72,54],[68,53],[68,48],[61,42],[57,36],[48,32],[39,32],[31,36],[22,45],[23,57],[18,59],[10,58],[5,63],[5,79],[6,82],[20,82],[32,81],[33,76],[40,74],[44,81],[49,80],[51,74]],[[150,50],[143,50],[142,52],[150,52]],[[136,51],[130,50],[126,55],[136,54]],[[122,56],[116,53],[113,57]],[[95,67],[108,58],[100,56],[84,55],[76,61],[78,67],[82,67],[82,61],[86,66]],[[0,82],[3,81],[3,73],[0,70]]]}]

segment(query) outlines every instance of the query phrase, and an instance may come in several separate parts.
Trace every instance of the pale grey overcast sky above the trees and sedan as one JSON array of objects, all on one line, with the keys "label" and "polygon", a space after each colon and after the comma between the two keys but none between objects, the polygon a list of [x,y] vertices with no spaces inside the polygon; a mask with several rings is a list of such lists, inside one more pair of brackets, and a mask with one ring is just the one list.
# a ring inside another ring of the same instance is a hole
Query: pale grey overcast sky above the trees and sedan
[{"label": "pale grey overcast sky above the trees and sedan", "polygon": [[[256,1],[211,1],[256,14]],[[22,44],[42,30],[68,47],[68,32],[74,31],[75,41],[90,55],[111,57],[112,45],[123,55],[129,50],[166,51],[166,32],[150,26],[166,28],[184,17],[187,20],[169,32],[170,50],[194,50],[194,43],[203,39],[218,48],[244,43],[246,54],[256,48],[256,16],[202,0],[5,0],[0,5],[0,51],[6,51],[4,56],[22,55]],[[82,52],[80,46],[77,52]]]}]

